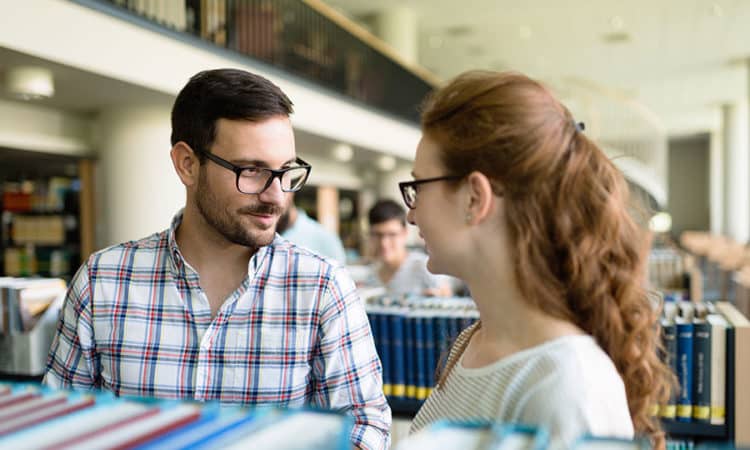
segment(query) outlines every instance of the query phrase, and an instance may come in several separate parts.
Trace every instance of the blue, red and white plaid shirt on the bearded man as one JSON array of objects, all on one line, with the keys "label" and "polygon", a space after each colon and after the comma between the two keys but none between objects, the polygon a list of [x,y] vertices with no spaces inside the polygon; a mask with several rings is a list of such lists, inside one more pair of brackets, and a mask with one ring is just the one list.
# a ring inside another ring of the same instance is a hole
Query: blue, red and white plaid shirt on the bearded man
[{"label": "blue, red and white plaid shirt on the bearded man", "polygon": [[391,422],[364,305],[347,272],[276,236],[211,317],[175,231],[94,253],[68,290],[45,383],[117,395],[349,412],[352,443]]}]

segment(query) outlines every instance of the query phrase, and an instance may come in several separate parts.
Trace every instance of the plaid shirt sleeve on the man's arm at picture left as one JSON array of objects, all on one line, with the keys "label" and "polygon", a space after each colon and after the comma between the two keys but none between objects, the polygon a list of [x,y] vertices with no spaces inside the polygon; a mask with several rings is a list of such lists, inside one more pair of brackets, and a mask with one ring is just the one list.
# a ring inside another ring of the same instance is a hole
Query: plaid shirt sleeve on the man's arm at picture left
[{"label": "plaid shirt sleeve on the man's arm at picture left", "polygon": [[97,386],[88,263],[78,269],[65,295],[52,340],[44,384],[90,390]]}]

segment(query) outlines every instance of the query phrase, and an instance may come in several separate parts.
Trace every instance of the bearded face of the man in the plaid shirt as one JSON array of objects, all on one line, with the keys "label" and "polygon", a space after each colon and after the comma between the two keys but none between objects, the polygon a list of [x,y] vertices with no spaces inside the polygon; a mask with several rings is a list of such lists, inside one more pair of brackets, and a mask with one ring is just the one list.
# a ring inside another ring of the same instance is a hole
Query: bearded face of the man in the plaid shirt
[{"label": "bearded face of the man in the plaid shirt", "polygon": [[[219,119],[211,153],[234,165],[281,169],[294,163],[294,133],[287,117],[262,122]],[[229,242],[251,248],[273,241],[289,193],[278,179],[260,194],[237,190],[231,170],[206,160],[200,168],[195,203],[206,223]]]}]

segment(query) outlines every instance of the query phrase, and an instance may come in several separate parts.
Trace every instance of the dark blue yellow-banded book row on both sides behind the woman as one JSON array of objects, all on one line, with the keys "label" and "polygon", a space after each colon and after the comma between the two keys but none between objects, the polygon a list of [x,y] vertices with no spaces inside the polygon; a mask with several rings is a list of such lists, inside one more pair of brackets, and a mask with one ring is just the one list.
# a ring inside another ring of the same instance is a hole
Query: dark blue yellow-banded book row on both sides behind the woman
[{"label": "dark blue yellow-banded book row on both sides behind the woman", "polygon": [[[750,323],[726,302],[684,298],[679,291],[665,294],[661,357],[679,388],[654,413],[661,416],[673,448],[732,441],[735,416],[748,418],[745,401],[735,399],[735,327],[744,334]],[[430,394],[451,342],[478,319],[478,312],[470,298],[373,295],[366,308],[383,366],[383,390],[395,415],[411,416]]]}]

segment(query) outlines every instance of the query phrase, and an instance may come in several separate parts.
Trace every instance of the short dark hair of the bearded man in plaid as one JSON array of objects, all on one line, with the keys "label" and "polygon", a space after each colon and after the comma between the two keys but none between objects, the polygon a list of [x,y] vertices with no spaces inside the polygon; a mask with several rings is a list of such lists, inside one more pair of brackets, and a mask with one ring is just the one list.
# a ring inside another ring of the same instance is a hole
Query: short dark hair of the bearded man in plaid
[{"label": "short dark hair of the bearded man in plaid", "polygon": [[238,69],[199,72],[182,88],[172,107],[172,145],[183,141],[201,162],[216,139],[218,119],[261,122],[292,114],[292,102],[260,75]]}]

